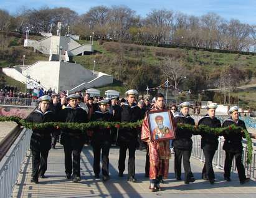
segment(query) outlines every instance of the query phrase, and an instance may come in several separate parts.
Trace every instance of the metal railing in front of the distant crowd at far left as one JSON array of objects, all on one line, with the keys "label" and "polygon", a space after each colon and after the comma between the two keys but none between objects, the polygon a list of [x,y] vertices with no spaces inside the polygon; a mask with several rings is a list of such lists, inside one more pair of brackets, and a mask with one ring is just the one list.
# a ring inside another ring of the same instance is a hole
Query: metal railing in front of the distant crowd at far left
[{"label": "metal railing in front of the distant crowd at far left", "polygon": [[31,106],[37,105],[37,99],[32,98],[15,98],[15,97],[0,97],[0,105],[11,106]]}]

